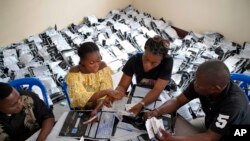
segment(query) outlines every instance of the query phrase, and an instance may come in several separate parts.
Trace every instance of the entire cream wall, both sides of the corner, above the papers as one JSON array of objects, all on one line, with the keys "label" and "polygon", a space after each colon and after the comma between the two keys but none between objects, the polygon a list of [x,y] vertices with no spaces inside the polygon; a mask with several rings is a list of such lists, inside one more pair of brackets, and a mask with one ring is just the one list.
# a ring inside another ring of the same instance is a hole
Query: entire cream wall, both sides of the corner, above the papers
[{"label": "entire cream wall, both sides of the corner, above the papers", "polygon": [[187,31],[216,31],[240,44],[250,42],[250,0],[1,0],[0,47],[129,4]]}]

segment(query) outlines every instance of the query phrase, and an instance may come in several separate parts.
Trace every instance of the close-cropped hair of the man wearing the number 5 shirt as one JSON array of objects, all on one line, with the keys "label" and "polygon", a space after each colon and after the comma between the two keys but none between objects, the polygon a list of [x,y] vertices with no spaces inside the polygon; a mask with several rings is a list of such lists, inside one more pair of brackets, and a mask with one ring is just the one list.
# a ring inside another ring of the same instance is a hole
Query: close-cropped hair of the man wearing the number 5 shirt
[{"label": "close-cropped hair of the man wearing the number 5 shirt", "polygon": [[230,81],[230,71],[220,60],[209,60],[198,67],[196,73],[203,75],[213,85],[224,87]]}]

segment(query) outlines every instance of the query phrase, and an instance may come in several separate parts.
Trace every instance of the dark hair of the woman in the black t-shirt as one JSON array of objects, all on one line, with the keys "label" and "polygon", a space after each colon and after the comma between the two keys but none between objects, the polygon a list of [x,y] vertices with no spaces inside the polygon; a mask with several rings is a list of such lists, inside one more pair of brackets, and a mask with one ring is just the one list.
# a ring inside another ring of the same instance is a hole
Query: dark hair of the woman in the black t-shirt
[{"label": "dark hair of the woman in the black t-shirt", "polygon": [[163,39],[161,36],[156,35],[153,38],[149,38],[144,46],[145,50],[149,50],[155,55],[167,56],[169,49],[169,41]]}]

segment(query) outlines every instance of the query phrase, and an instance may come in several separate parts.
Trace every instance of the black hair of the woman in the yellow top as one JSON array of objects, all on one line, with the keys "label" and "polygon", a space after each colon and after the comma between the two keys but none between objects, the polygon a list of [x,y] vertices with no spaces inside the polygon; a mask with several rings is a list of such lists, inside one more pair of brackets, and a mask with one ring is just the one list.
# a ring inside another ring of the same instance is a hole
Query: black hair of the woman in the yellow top
[{"label": "black hair of the woman in the yellow top", "polygon": [[78,56],[84,59],[87,54],[95,51],[99,51],[99,48],[94,42],[85,42],[78,48]]}]

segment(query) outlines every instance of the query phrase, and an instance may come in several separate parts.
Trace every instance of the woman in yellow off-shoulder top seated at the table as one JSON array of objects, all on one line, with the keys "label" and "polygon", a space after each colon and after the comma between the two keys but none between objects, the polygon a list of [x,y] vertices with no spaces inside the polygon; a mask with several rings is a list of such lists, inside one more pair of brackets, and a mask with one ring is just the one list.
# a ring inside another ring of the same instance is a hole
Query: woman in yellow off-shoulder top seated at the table
[{"label": "woman in yellow off-shoulder top seated at the table", "polygon": [[[91,109],[105,96],[120,99],[113,90],[112,70],[102,61],[98,46],[85,42],[78,48],[79,65],[66,75],[68,94],[73,108]],[[87,106],[88,105],[88,106]]]}]

